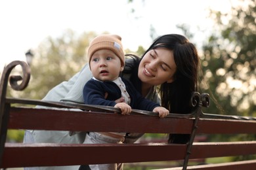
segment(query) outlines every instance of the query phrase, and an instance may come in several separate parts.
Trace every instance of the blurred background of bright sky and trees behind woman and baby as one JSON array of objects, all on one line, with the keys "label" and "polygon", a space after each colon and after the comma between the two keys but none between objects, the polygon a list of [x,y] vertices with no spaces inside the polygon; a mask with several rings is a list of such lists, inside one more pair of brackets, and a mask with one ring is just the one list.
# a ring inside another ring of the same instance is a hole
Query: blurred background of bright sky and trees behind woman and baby
[{"label": "blurred background of bright sky and trees behind woman and baby", "polygon": [[[156,37],[179,33],[199,51],[200,93],[211,97],[210,107],[203,111],[256,116],[255,4],[255,0],[0,1],[0,75],[11,61],[27,61],[32,69],[28,88],[22,92],[8,88],[7,96],[42,99],[83,67],[87,46],[96,35],[118,34],[125,53],[141,56]],[[7,140],[22,142],[23,135],[22,130],[10,130]],[[148,134],[142,140],[160,138],[165,136]],[[199,140],[226,139],[232,136]]]}]

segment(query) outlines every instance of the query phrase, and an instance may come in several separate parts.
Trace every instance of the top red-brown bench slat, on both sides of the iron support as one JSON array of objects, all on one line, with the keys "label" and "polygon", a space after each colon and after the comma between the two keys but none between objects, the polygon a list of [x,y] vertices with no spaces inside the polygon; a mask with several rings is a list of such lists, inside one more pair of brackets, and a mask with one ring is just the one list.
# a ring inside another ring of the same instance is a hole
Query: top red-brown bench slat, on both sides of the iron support
[{"label": "top red-brown bench slat, on both sides of the iron support", "polygon": [[[59,121],[60,118],[61,121]],[[104,124],[102,124],[102,121]],[[162,119],[144,115],[122,116],[102,112],[11,107],[9,128],[70,131],[116,131],[118,129],[119,131],[137,133],[191,133],[193,121],[193,118]],[[150,122],[154,122],[154,124]],[[130,126],[131,123],[133,126]],[[197,133],[256,134],[256,121],[200,119]]]}]

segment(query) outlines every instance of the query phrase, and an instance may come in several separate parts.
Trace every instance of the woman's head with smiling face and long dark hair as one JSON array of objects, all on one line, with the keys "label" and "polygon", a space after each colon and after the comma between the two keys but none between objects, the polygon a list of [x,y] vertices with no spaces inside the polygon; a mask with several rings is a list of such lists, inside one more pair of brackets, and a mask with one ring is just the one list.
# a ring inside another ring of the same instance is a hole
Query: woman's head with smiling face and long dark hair
[{"label": "woman's head with smiling face and long dark hair", "polygon": [[[165,63],[169,63],[169,68]],[[158,37],[141,59],[131,67],[129,80],[145,97],[160,85],[161,106],[173,113],[192,111],[192,92],[198,91],[200,59],[194,44],[186,37],[169,34]],[[187,143],[189,135],[169,135],[169,143]]]}]

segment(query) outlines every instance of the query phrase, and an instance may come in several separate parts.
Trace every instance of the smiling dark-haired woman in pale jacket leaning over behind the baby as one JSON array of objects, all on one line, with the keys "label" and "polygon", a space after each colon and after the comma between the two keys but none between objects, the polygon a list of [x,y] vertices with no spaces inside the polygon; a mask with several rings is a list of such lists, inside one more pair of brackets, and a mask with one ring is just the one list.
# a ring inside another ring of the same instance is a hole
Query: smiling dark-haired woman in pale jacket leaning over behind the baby
[{"label": "smiling dark-haired woman in pale jacket leaning over behind the baby", "polygon": [[[158,37],[142,58],[132,56],[126,59],[125,65],[123,76],[133,83],[142,96],[160,102],[156,88],[160,86],[161,106],[175,113],[192,110],[189,101],[191,93],[197,91],[199,58],[196,47],[186,37],[177,34]],[[54,87],[43,100],[83,103],[83,86],[91,78],[89,65],[86,64],[68,82]],[[84,135],[79,135],[82,134],[70,136],[68,131],[32,130],[26,131],[24,143],[83,143]],[[124,143],[134,143],[142,135],[130,134],[125,137]],[[170,135],[169,143],[186,143],[188,138],[188,135]]]}]

